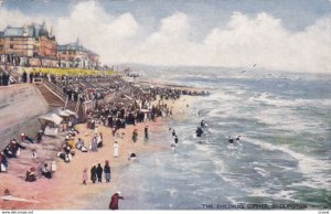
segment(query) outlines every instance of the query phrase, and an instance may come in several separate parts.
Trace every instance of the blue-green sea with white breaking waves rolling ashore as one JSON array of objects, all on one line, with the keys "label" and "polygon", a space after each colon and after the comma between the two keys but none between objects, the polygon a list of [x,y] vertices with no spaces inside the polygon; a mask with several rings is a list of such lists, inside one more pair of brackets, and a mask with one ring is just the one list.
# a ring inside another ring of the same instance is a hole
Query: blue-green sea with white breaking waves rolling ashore
[{"label": "blue-green sea with white breaking waves rolling ashore", "polygon": [[[331,208],[331,75],[250,67],[150,68],[148,78],[207,88],[171,131],[169,150],[122,169],[121,210]],[[202,138],[193,133],[207,125]],[[241,136],[239,142],[228,138]],[[92,208],[107,208],[109,193]]]}]

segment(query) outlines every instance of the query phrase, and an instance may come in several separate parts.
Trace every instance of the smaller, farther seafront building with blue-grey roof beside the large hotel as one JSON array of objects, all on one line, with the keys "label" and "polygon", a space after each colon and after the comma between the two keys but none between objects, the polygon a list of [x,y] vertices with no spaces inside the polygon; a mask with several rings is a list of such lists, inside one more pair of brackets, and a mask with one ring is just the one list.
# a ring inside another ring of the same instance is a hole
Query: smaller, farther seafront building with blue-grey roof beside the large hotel
[{"label": "smaller, farther seafront building with blue-grey roof beside the large hotel", "polygon": [[74,43],[57,45],[57,57],[62,67],[81,67],[95,69],[99,66],[99,55],[79,44]]}]

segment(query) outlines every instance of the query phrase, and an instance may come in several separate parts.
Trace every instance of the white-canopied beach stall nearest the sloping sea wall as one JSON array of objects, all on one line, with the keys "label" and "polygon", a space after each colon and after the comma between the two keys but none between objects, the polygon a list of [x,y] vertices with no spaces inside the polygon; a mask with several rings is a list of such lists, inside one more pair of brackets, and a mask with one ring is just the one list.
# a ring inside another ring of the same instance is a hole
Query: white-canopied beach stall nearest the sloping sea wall
[{"label": "white-canopied beach stall nearest the sloping sea wall", "polygon": [[57,136],[58,127],[63,120],[58,115],[54,113],[50,113],[40,116],[38,119],[42,124],[42,127],[44,128],[45,136]]}]

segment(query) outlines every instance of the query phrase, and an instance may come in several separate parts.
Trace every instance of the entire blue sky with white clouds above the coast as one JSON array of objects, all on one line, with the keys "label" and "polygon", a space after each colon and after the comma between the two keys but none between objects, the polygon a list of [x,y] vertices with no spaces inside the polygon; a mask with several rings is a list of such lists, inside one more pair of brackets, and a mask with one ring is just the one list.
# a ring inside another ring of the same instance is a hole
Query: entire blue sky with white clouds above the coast
[{"label": "entire blue sky with white clouds above the coast", "polygon": [[0,0],[0,30],[46,22],[105,64],[331,73],[331,0]]}]

